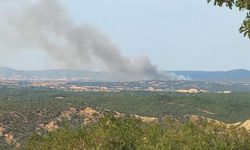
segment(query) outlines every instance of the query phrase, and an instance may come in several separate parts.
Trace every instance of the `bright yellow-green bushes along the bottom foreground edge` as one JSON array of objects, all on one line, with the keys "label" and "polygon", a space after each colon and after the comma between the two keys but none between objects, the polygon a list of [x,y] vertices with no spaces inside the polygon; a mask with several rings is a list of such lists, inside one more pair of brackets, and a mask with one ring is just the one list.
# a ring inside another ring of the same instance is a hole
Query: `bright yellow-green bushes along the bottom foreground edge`
[{"label": "bright yellow-green bushes along the bottom foreground edge", "polygon": [[181,123],[165,118],[163,123],[143,123],[134,118],[107,116],[78,130],[59,129],[48,135],[34,134],[27,150],[211,150],[250,149],[250,134],[200,121]]}]

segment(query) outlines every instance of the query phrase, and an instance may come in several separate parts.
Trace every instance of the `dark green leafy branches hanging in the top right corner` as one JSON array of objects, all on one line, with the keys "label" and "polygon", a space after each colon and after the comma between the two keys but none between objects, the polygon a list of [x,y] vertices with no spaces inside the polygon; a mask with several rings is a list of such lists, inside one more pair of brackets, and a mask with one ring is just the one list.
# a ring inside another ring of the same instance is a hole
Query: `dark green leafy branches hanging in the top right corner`
[{"label": "dark green leafy branches hanging in the top right corner", "polygon": [[250,0],[208,0],[208,3],[214,1],[214,5],[222,7],[226,5],[230,9],[234,6],[240,11],[247,11],[246,18],[243,20],[239,32],[250,38]]}]

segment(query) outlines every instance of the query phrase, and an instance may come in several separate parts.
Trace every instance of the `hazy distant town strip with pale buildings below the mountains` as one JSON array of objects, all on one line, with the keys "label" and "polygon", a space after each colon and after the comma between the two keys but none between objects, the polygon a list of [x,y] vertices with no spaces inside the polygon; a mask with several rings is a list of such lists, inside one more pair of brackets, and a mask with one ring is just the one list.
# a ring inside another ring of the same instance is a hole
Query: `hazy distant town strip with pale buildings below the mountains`
[{"label": "hazy distant town strip with pale buildings below the mountains", "polygon": [[[241,90],[249,90],[250,84],[235,84],[204,81],[131,81],[131,82],[86,82],[80,79],[20,79],[0,77],[1,87],[38,87],[70,91],[92,92],[121,92],[121,91],[148,91],[148,92],[177,92],[177,93],[224,93],[234,91],[234,87],[241,86]],[[236,91],[240,92],[240,91]]]}]

